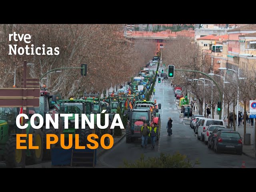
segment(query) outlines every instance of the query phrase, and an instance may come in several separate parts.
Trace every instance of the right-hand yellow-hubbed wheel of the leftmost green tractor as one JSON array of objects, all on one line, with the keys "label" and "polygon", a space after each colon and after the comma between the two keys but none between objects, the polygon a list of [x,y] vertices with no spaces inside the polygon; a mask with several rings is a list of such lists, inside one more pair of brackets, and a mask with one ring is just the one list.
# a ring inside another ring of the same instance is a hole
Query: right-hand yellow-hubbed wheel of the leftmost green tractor
[{"label": "right-hand yellow-hubbed wheel of the leftmost green tractor", "polygon": [[26,162],[28,164],[39,164],[42,162],[44,154],[44,136],[40,129],[35,129],[32,135],[33,146],[38,146],[39,148],[30,150],[31,156],[26,156]]}]

